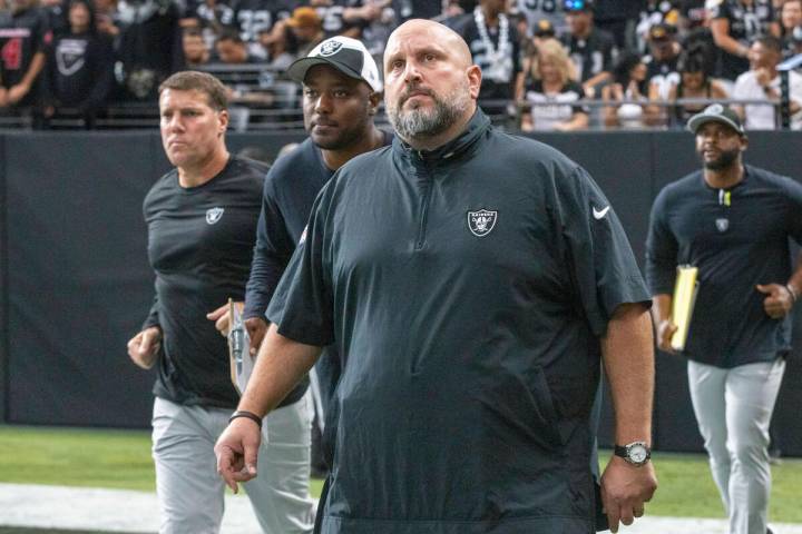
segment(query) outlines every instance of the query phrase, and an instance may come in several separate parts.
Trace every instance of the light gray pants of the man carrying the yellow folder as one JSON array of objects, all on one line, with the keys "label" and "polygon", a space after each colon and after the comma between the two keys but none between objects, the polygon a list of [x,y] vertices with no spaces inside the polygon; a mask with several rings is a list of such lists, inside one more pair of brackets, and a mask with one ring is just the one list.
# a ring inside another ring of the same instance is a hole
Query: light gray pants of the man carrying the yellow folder
[{"label": "light gray pants of the man carrying the yellow folder", "polygon": [[785,360],[723,369],[688,362],[691,400],[731,534],[765,534],[769,424]]}]

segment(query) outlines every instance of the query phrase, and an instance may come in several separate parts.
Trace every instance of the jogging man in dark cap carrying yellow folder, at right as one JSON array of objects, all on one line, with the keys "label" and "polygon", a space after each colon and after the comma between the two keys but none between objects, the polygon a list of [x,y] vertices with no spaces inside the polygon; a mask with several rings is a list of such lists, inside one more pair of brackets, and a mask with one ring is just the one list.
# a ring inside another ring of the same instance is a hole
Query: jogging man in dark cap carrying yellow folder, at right
[{"label": "jogging man in dark cap carrying yellow folder, at right", "polygon": [[[688,120],[703,169],[666,186],[652,208],[646,273],[661,349],[676,353],[676,267],[698,268],[687,342],[688,384],[731,534],[763,534],[771,488],[769,423],[791,308],[802,291],[789,238],[802,244],[802,186],[742,161],[734,110],[714,103]],[[769,531],[770,532],[770,531]]]}]

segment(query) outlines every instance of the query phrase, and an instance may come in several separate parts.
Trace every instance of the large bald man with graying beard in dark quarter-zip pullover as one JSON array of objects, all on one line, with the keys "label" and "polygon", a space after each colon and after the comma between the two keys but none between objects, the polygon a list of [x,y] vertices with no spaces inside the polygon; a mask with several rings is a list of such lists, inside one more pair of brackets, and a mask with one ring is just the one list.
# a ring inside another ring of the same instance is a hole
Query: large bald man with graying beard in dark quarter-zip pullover
[{"label": "large bald man with graying beard in dark quarter-zip pullover", "polygon": [[[555,534],[643,514],[653,392],[649,295],[620,222],[578,165],[492,129],[462,39],[412,20],[384,55],[392,147],[315,201],[217,442],[237,487],[258,421],[334,344],[343,359],[325,534]],[[618,455],[590,468],[604,363]]]}]

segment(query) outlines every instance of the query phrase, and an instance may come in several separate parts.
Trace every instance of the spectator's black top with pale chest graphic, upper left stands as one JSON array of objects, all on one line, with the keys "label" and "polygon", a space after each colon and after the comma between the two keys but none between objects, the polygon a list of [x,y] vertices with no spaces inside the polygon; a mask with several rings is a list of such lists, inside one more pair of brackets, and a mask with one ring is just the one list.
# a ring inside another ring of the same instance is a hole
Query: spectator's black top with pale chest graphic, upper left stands
[{"label": "spectator's black top with pale chest graphic, upper left stands", "polygon": [[102,106],[114,82],[114,51],[104,34],[67,33],[49,49],[48,100],[80,110]]}]

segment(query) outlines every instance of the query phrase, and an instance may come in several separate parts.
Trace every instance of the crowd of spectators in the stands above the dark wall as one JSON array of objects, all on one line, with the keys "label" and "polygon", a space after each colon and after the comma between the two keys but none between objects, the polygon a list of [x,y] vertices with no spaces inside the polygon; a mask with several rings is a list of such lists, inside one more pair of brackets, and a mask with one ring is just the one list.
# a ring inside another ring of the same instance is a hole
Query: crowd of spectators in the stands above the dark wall
[{"label": "crowd of spectators in the stands above the dark wall", "polygon": [[[254,109],[297,109],[283,72],[316,43],[345,34],[380,60],[411,18],[462,34],[482,107],[527,131],[682,127],[726,98],[775,128],[777,63],[802,52],[802,0],[0,0],[0,117],[91,128],[109,103],[155,109],[192,68],[224,80],[246,128],[270,120]],[[802,128],[796,72],[789,100]]]}]

